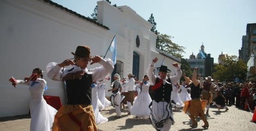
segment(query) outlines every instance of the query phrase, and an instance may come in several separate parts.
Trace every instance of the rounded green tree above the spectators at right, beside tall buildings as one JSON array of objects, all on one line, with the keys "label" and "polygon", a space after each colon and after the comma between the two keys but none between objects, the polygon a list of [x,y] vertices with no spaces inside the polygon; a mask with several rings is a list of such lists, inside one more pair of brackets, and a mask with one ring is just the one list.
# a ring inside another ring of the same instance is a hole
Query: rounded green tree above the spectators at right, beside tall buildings
[{"label": "rounded green tree above the spectators at right, beside tall buildings", "polygon": [[235,78],[244,80],[246,77],[247,66],[239,60],[237,56],[228,56],[221,58],[222,64],[217,65],[213,73],[215,80],[220,81],[234,81]]}]

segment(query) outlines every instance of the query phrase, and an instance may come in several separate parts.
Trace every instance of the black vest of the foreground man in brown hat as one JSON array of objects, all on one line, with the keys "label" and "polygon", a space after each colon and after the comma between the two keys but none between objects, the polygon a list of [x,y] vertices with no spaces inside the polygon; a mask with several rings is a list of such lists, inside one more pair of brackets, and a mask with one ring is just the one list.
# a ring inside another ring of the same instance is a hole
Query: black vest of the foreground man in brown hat
[{"label": "black vest of the foreground man in brown hat", "polygon": [[66,92],[68,103],[75,104],[92,104],[92,74],[84,74],[80,79],[66,80]]}]

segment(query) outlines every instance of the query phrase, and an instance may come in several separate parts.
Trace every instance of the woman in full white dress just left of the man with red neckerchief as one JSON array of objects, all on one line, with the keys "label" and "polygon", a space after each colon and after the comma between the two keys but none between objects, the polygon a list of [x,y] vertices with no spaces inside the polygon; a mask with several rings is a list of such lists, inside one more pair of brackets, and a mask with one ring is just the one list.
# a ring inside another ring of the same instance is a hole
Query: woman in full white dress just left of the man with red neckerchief
[{"label": "woman in full white dress just left of the man with red neckerchief", "polygon": [[136,118],[149,118],[150,108],[148,107],[151,103],[151,97],[148,93],[150,83],[148,82],[149,78],[147,75],[144,76],[143,82],[140,84],[140,92],[134,101],[134,104],[131,108],[131,114],[135,115]]}]

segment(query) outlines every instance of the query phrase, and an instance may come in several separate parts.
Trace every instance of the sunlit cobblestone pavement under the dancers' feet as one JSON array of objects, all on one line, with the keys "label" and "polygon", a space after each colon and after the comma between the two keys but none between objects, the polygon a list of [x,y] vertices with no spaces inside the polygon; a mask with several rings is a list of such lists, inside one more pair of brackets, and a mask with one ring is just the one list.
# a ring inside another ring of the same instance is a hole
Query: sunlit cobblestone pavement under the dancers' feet
[{"label": "sunlit cobblestone pavement under the dancers' feet", "polygon": [[[179,110],[174,110],[175,125],[171,126],[170,131],[255,131],[256,124],[250,122],[252,113],[240,110],[234,106],[228,107],[227,112],[224,109],[217,110],[212,106],[209,110],[207,120],[209,129],[201,126],[204,122],[197,118],[198,127],[191,128],[189,117]],[[115,108],[108,107],[101,111],[101,114],[109,119],[107,123],[98,125],[99,131],[156,131],[149,120],[135,119],[133,115],[128,115],[127,110],[122,110],[122,118],[115,118]],[[0,118],[0,131],[29,131],[29,115]]]}]

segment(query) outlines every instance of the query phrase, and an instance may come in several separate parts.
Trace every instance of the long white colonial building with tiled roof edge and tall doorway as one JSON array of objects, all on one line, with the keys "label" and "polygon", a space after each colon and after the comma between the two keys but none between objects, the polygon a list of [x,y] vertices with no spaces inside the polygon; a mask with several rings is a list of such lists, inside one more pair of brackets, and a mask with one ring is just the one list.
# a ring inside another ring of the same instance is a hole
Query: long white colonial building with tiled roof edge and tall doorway
[{"label": "long white colonial building with tiled roof edge and tall doorway", "polygon": [[[105,55],[116,34],[116,70],[122,77],[133,73],[142,78],[154,57],[157,67],[164,63],[175,73],[171,63],[180,59],[156,49],[156,34],[151,23],[128,6],[111,6],[98,1],[98,22],[51,0],[0,0],[0,117],[28,114],[29,89],[8,81],[29,76],[34,68],[45,70],[47,63],[71,58],[76,46],[91,47],[91,55]],[[137,39],[137,42],[136,42]],[[107,57],[111,58],[111,52]],[[99,66],[95,64],[88,68]],[[62,82],[47,78],[45,95],[59,96],[66,104]]]}]

